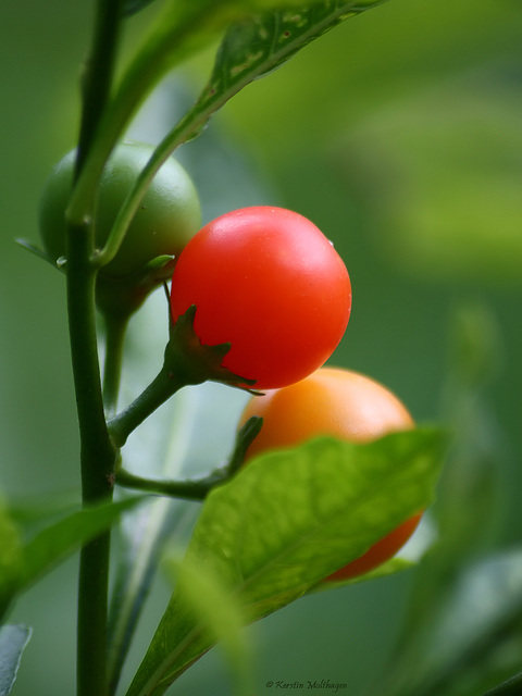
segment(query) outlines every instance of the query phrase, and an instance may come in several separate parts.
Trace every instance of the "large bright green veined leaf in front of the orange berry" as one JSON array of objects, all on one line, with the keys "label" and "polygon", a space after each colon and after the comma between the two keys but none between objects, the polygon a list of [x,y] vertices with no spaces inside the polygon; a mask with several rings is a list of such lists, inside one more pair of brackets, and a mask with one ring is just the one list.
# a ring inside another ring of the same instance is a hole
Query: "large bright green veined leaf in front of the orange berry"
[{"label": "large bright green veined leaf in front of the orange berry", "polygon": [[[446,438],[320,438],[252,460],[207,499],[186,562],[215,575],[248,621],[304,595],[433,499]],[[174,593],[128,696],[163,694],[212,645]]]}]

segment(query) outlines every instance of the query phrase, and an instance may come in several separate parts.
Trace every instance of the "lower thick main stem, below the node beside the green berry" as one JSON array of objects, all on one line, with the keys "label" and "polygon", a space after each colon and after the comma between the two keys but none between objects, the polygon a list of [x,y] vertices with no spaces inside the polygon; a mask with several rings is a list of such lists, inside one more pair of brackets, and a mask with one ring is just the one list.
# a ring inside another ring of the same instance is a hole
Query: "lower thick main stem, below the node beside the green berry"
[{"label": "lower thick main stem, below the node beside the green berry", "polygon": [[[87,228],[72,228],[67,259],[67,304],[71,355],[80,435],[84,505],[112,497],[115,448],[109,438],[101,398],[95,281]],[[107,693],[107,607],[110,533],[82,549],[78,585],[78,696]]]}]

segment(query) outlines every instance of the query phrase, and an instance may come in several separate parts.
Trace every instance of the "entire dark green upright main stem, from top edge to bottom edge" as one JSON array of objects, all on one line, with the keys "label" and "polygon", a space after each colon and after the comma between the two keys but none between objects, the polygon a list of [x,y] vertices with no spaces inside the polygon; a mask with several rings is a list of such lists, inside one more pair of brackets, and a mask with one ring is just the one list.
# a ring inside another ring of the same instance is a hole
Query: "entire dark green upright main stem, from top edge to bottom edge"
[{"label": "entire dark green upright main stem, from top edge to bottom edge", "polygon": [[[82,78],[83,110],[75,181],[87,160],[112,85],[122,0],[98,0],[90,53]],[[96,182],[95,182],[96,184]],[[84,506],[112,498],[116,450],[107,430],[98,359],[94,252],[96,185],[85,194],[83,214],[69,219],[67,313],[80,436]],[[110,532],[80,554],[77,623],[77,694],[105,696]]]}]

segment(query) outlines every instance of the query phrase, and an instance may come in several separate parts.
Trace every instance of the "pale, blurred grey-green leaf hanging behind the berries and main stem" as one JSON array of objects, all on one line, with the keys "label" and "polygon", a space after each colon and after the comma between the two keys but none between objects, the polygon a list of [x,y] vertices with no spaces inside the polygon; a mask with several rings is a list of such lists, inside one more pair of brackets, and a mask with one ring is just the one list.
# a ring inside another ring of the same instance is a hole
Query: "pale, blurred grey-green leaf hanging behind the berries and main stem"
[{"label": "pale, blurred grey-green leaf hanging behind the berries and main stem", "polygon": [[[163,129],[174,121],[174,113],[175,110],[163,113]],[[263,195],[244,164],[243,154],[231,152],[228,144],[223,149],[219,134],[208,133],[204,142],[196,142],[184,154],[189,157],[188,162],[186,159],[184,162],[198,182],[209,219],[215,216],[212,210],[217,214],[223,204],[237,208],[245,202],[245,197],[259,201]],[[223,176],[224,163],[226,177]],[[166,314],[164,298],[157,293],[129,325],[123,402],[132,401],[139,394],[144,364],[152,353],[161,355],[165,348]],[[226,461],[248,395],[239,389],[213,382],[182,389],[130,435],[123,450],[125,469],[158,480],[204,476]],[[112,686],[119,681],[165,540],[173,534],[176,538],[183,535],[185,539],[198,512],[199,505],[194,502],[154,497],[122,521],[119,530],[121,554],[110,611],[108,660]]]}]

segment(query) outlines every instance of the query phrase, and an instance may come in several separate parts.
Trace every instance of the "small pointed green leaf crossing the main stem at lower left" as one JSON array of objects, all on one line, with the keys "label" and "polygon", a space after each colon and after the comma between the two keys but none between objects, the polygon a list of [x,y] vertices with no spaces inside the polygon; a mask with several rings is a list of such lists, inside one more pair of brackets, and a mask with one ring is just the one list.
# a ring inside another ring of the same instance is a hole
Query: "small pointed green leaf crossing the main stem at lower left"
[{"label": "small pointed green leaf crossing the main stem at lower left", "polygon": [[36,534],[23,548],[18,589],[25,589],[83,544],[110,529],[123,512],[134,508],[142,499],[134,497],[120,502],[84,508]]}]

